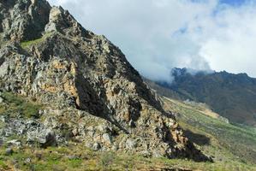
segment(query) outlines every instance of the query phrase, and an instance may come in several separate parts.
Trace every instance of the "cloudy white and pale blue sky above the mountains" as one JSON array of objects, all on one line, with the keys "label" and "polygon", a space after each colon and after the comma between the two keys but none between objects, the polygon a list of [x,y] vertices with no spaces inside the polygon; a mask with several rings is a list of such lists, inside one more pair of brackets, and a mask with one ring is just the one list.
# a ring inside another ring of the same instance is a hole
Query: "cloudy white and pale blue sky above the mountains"
[{"label": "cloudy white and pale blue sky above the mountains", "polygon": [[171,68],[256,78],[256,0],[50,0],[104,34],[140,74],[171,80]]}]

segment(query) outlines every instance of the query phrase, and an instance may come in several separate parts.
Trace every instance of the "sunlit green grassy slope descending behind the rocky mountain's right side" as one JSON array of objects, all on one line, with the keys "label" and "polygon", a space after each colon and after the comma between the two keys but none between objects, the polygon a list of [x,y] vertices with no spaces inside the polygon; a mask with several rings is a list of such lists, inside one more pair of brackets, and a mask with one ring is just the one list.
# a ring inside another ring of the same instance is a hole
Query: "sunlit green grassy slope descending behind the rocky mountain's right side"
[{"label": "sunlit green grassy slope descending behind the rocky mountain's right side", "polygon": [[165,98],[164,103],[165,109],[179,114],[176,118],[188,138],[215,161],[256,164],[255,128],[214,119],[176,100]]}]

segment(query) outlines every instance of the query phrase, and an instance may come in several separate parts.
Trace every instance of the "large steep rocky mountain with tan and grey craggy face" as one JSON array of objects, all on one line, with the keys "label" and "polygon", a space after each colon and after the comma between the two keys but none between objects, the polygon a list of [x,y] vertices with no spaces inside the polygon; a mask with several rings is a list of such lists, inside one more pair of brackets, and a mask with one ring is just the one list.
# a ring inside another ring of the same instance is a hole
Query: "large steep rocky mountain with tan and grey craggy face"
[{"label": "large steep rocky mountain with tan and grey craggy face", "polygon": [[47,147],[72,139],[92,150],[209,160],[122,51],[67,10],[45,0],[1,0],[0,21],[1,105],[8,109],[15,94],[39,106],[30,116],[2,115],[3,141],[20,135]]}]

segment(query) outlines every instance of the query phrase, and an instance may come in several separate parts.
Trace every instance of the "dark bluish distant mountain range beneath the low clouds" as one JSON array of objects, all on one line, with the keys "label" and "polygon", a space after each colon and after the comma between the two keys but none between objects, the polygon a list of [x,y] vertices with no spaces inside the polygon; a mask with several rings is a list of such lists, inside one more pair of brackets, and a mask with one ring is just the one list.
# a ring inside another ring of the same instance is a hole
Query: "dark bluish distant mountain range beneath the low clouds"
[{"label": "dark bluish distant mountain range beneath the low clouds", "polygon": [[247,74],[223,72],[188,72],[174,68],[173,81],[150,81],[147,84],[166,97],[208,104],[229,121],[256,126],[256,79]]}]

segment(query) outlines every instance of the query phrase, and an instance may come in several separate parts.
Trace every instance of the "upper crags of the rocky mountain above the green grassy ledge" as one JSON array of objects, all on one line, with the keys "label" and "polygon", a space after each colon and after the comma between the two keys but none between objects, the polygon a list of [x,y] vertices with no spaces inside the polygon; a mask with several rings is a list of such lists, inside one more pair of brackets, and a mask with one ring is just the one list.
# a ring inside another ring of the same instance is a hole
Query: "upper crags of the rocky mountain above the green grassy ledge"
[{"label": "upper crags of the rocky mountain above the green grassy ledge", "polygon": [[0,31],[3,38],[26,41],[40,38],[45,32],[91,37],[74,17],[62,7],[51,7],[45,0],[3,0],[0,3]]}]

